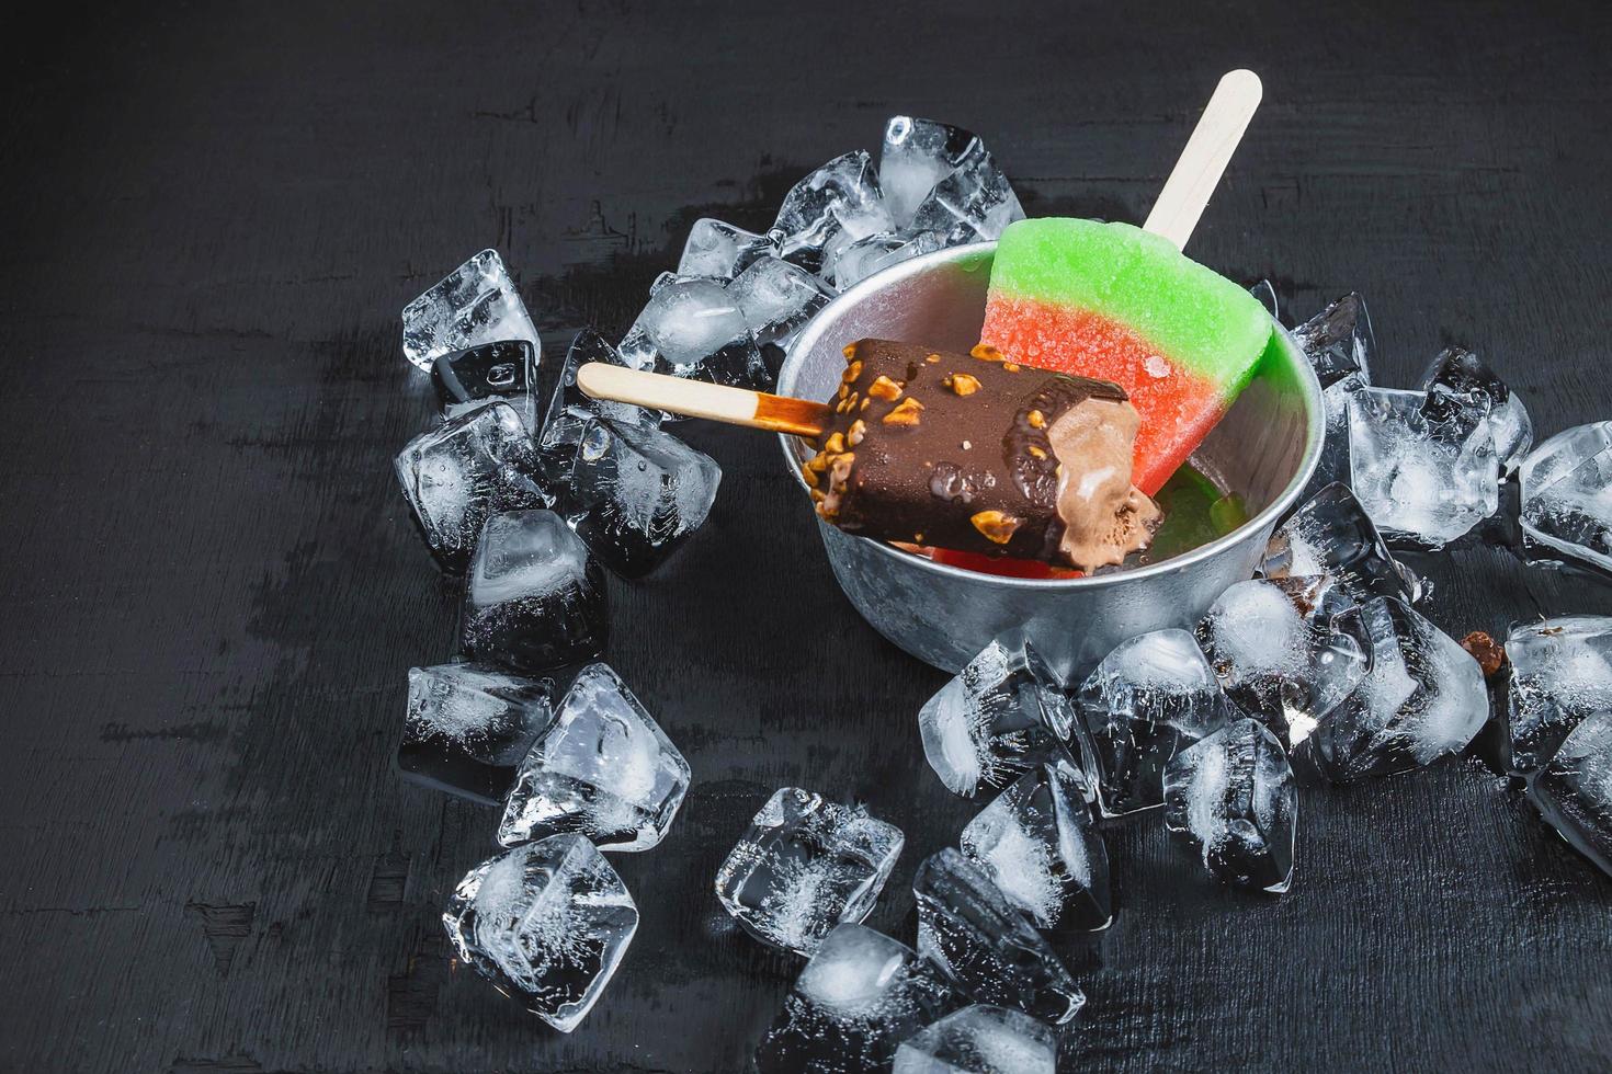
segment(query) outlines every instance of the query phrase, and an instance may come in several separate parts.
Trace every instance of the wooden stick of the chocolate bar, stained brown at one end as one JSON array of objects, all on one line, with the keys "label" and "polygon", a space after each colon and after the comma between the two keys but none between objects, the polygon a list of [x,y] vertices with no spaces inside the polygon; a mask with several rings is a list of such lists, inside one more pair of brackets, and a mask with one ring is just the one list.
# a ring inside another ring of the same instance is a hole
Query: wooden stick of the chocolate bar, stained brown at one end
[{"label": "wooden stick of the chocolate bar, stained brown at one end", "polygon": [[824,403],[729,388],[703,380],[646,374],[608,362],[587,362],[577,369],[577,386],[590,399],[611,399],[669,411],[685,417],[704,417],[729,425],[771,428],[796,436],[817,436],[829,425],[833,411]]}]

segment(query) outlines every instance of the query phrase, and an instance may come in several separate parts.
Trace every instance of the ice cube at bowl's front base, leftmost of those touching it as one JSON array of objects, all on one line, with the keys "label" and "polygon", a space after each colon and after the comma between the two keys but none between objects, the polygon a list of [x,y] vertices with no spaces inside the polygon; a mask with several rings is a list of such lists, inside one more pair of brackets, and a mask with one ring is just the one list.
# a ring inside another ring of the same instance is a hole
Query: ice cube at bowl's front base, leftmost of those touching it
[{"label": "ice cube at bowl's front base, leftmost of those touching it", "polygon": [[999,787],[1064,750],[1074,710],[1028,644],[999,641],[969,660],[917,713],[924,757],[953,794]]}]

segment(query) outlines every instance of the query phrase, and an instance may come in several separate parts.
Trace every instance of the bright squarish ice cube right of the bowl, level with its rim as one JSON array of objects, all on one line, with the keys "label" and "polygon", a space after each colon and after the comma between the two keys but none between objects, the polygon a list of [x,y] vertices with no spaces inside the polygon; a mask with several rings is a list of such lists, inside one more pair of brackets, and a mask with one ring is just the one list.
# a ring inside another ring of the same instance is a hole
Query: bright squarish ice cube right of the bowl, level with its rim
[{"label": "bright squarish ice cube right of the bowl, level with its rim", "polygon": [[1499,509],[1499,462],[1486,422],[1438,422],[1423,403],[1420,391],[1354,391],[1349,473],[1378,530],[1436,549]]}]

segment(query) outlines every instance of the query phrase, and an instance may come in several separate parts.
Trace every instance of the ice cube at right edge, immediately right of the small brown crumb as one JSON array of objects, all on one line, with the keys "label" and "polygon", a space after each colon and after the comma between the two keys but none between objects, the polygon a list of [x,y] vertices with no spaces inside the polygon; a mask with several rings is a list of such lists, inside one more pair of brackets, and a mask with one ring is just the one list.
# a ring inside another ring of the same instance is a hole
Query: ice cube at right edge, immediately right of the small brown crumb
[{"label": "ice cube at right edge, immediately right of the small brown crumb", "polygon": [[1612,617],[1559,615],[1512,628],[1506,729],[1507,768],[1527,775],[1585,717],[1612,708]]}]

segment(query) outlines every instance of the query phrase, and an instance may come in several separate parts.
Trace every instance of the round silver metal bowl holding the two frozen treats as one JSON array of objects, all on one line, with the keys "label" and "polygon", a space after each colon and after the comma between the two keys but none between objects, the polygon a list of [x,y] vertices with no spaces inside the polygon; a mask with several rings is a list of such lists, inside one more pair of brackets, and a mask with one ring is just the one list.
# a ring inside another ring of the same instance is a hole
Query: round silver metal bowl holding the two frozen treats
[{"label": "round silver metal bowl holding the two frozen treats", "polygon": [[[841,348],[864,337],[967,351],[980,338],[996,243],[904,261],[835,298],[790,348],[779,391],[827,399],[845,370]],[[891,642],[946,671],[993,638],[1027,638],[1066,680],[1127,638],[1194,623],[1235,581],[1253,575],[1277,518],[1302,493],[1325,435],[1320,383],[1280,328],[1254,380],[1193,456],[1249,522],[1209,544],[1148,567],[1070,580],[982,575],[935,564],[819,520],[833,575],[856,610]],[[800,480],[809,456],[779,438]]]}]

